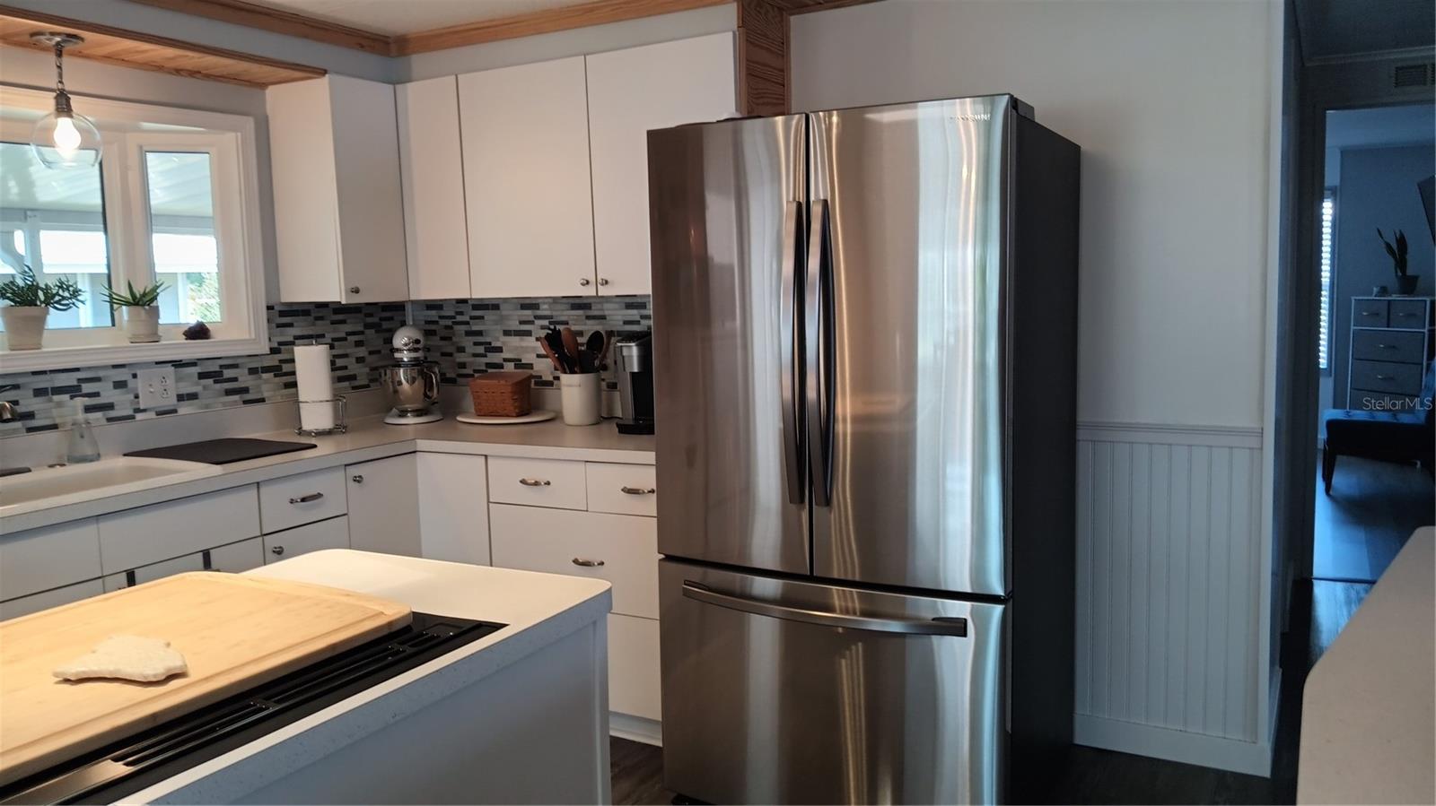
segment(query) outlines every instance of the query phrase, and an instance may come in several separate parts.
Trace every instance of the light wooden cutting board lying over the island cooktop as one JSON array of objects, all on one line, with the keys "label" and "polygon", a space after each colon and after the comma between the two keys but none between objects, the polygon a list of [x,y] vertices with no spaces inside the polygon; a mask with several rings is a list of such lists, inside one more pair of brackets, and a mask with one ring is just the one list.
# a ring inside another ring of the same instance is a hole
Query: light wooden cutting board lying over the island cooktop
[{"label": "light wooden cutting board lying over the island cooktop", "polygon": [[[406,605],[302,582],[192,572],[0,622],[0,784],[399,630]],[[188,674],[57,680],[111,635],[169,641]]]}]

